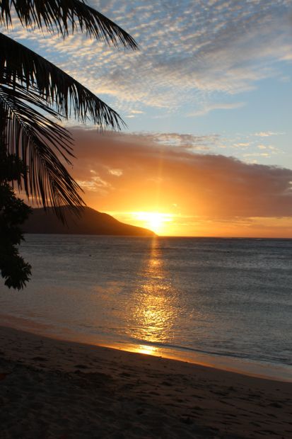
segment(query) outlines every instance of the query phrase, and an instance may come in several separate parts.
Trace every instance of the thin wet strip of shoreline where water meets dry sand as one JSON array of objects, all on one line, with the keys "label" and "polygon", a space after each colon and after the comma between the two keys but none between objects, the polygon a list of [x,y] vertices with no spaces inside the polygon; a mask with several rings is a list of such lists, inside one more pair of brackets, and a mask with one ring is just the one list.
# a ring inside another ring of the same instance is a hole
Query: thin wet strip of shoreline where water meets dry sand
[{"label": "thin wet strip of shoreline where water meets dry sand", "polygon": [[[274,366],[271,367],[271,363],[265,364],[264,362],[252,361],[246,358],[236,358],[231,355],[216,355],[216,353],[211,355],[184,348],[172,349],[163,346],[158,347],[146,341],[126,343],[117,341],[110,342],[105,339],[101,340],[100,338],[97,340],[96,337],[91,334],[72,332],[66,328],[41,324],[40,322],[35,322],[23,317],[13,317],[8,314],[0,313],[0,321],[2,322],[1,326],[11,327],[19,331],[28,331],[38,336],[53,338],[59,341],[83,343],[88,346],[101,346],[131,353],[142,353],[158,358],[211,367],[217,370],[226,370],[227,372],[234,372],[249,377],[279,382],[292,382],[292,370],[290,367],[285,367],[285,365],[274,364]],[[59,331],[56,332],[57,329],[59,329]]]}]

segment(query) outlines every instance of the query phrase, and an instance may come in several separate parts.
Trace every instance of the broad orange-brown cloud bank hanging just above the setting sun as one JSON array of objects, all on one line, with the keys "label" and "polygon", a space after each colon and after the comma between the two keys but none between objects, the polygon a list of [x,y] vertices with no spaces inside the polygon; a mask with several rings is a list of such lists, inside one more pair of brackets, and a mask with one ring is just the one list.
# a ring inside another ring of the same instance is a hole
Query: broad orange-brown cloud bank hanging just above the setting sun
[{"label": "broad orange-brown cloud bank hanging just above the setting sun", "polygon": [[[292,215],[290,169],[194,152],[185,142],[161,144],[155,134],[72,132],[78,157],[72,173],[80,182],[94,182],[95,189],[83,188],[88,205],[98,210],[168,212],[177,205],[182,216],[212,221]],[[122,173],[117,178],[109,169]]]}]

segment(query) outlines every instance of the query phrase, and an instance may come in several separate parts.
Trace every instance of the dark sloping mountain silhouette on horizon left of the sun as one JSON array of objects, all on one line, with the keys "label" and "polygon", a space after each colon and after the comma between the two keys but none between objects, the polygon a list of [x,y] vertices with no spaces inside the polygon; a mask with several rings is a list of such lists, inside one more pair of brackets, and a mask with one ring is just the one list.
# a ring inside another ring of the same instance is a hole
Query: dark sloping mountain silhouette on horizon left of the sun
[{"label": "dark sloping mountain silhouette on horizon left of the sun", "polygon": [[66,211],[66,222],[62,224],[54,215],[52,207],[33,209],[33,213],[23,225],[24,233],[45,234],[92,234],[92,235],[122,235],[122,236],[155,236],[151,230],[131,226],[119,222],[106,213],[85,207],[81,217],[76,217],[69,207]]}]

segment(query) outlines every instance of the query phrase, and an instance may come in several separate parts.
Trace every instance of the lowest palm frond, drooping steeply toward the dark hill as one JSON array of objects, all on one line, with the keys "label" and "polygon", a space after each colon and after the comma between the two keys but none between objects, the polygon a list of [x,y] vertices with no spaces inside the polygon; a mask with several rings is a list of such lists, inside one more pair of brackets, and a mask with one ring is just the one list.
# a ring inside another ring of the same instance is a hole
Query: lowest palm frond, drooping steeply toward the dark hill
[{"label": "lowest palm frond, drooping steeply toward the dark hill", "polygon": [[64,221],[62,205],[69,205],[78,214],[84,205],[78,195],[78,184],[66,171],[63,158],[70,164],[72,139],[69,132],[34,107],[49,111],[58,117],[47,103],[18,85],[11,89],[0,84],[0,111],[5,113],[4,144],[8,154],[23,160],[25,192],[44,207],[52,205],[57,216]]}]

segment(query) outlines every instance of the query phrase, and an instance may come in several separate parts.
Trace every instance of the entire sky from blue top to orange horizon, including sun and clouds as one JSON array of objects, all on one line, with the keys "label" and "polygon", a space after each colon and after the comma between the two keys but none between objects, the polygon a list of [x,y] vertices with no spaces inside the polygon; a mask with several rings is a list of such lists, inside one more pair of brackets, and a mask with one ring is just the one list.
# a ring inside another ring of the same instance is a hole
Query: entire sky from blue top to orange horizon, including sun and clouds
[{"label": "entire sky from blue top to orange horizon, including sun and clouds", "polygon": [[87,3],[139,52],[9,34],[127,122],[66,122],[86,203],[158,234],[292,238],[292,0]]}]

